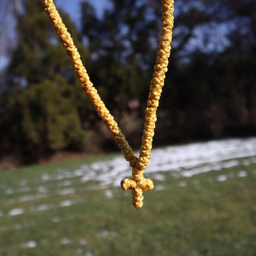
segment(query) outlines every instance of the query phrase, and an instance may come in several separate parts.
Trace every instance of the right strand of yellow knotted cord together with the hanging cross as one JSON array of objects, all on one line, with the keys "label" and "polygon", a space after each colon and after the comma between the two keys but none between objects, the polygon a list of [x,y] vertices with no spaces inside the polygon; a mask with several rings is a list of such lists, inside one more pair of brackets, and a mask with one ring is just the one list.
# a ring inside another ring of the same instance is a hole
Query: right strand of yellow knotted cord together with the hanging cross
[{"label": "right strand of yellow knotted cord together with the hanging cross", "polygon": [[150,191],[154,188],[150,179],[143,177],[144,169],[150,159],[152,141],[154,136],[155,122],[157,121],[157,107],[164,85],[165,73],[167,72],[168,58],[171,51],[172,29],[174,25],[174,0],[162,0],[162,29],[157,52],[157,60],[154,66],[153,79],[151,80],[148,95],[147,108],[145,109],[145,123],[140,147],[140,157],[132,168],[132,177],[121,181],[124,190],[132,189],[133,205],[136,208],[143,206],[143,189]]}]

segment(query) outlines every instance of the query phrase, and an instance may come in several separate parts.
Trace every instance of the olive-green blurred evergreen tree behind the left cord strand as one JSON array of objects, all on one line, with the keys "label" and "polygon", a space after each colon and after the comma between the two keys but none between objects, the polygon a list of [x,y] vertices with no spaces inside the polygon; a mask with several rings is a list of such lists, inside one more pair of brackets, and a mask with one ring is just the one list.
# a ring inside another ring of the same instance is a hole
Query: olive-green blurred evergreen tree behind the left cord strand
[{"label": "olive-green blurred evergreen tree behind the left cord strand", "polygon": [[[86,60],[75,27],[67,15],[61,16]],[[17,32],[2,114],[6,150],[29,163],[52,151],[84,148],[89,138],[83,116],[92,108],[40,1],[24,1]]]}]

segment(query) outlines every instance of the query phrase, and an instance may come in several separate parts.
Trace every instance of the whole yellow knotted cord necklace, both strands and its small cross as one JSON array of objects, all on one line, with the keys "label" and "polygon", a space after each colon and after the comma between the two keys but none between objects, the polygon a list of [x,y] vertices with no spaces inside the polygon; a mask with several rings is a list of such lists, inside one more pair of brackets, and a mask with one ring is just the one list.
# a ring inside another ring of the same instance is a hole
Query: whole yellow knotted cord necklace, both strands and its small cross
[{"label": "whole yellow knotted cord necklace, both strands and its small cross", "polygon": [[70,57],[76,76],[79,78],[83,90],[87,93],[90,102],[93,104],[99,117],[110,130],[115,142],[125,156],[125,159],[132,167],[132,177],[121,181],[121,187],[124,190],[132,189],[133,205],[136,208],[143,206],[143,189],[150,191],[154,188],[150,179],[143,176],[144,169],[148,166],[150,153],[152,148],[152,140],[154,136],[155,122],[157,120],[156,112],[159,99],[164,85],[165,73],[167,71],[168,58],[171,50],[172,28],[174,25],[174,0],[162,0],[162,29],[159,43],[159,51],[157,52],[157,60],[154,65],[153,79],[151,80],[150,92],[148,95],[147,108],[145,109],[145,123],[142,136],[142,144],[140,146],[140,157],[134,154],[131,146],[125,140],[113,116],[105,107],[104,102],[100,99],[99,94],[89,79],[87,71],[80,59],[80,54],[73,43],[73,38],[67,31],[66,26],[56,10],[53,0],[42,0],[44,8],[52,21],[57,35],[59,36],[67,55]]}]

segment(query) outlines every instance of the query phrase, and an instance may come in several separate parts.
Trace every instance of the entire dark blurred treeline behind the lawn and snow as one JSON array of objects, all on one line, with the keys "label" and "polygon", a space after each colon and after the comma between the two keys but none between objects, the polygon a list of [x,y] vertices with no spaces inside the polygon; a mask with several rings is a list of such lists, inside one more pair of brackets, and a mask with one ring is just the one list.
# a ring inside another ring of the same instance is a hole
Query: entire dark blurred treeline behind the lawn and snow
[{"label": "entire dark blurred treeline behind the lawn and snow", "polygon": [[[161,28],[160,0],[81,3],[61,13],[91,81],[138,148]],[[179,0],[154,145],[256,135],[256,2]],[[81,90],[41,1],[16,12],[17,47],[1,79],[0,155],[37,162],[57,151],[117,147]]]}]

